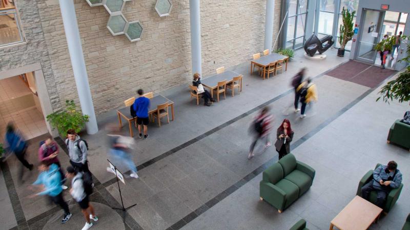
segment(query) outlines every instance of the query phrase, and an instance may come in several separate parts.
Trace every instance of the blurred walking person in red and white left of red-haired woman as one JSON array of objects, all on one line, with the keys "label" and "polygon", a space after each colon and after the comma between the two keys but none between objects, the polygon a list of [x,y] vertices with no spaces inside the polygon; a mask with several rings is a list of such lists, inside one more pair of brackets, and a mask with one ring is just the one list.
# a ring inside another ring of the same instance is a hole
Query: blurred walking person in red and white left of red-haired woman
[{"label": "blurred walking person in red and white left of red-haired woman", "polygon": [[255,137],[249,150],[248,159],[251,159],[253,156],[255,156],[254,149],[258,141],[265,141],[265,149],[271,146],[269,133],[272,129],[272,120],[273,116],[270,114],[268,106],[264,107],[255,118],[254,122],[252,123]]}]

